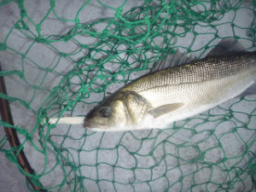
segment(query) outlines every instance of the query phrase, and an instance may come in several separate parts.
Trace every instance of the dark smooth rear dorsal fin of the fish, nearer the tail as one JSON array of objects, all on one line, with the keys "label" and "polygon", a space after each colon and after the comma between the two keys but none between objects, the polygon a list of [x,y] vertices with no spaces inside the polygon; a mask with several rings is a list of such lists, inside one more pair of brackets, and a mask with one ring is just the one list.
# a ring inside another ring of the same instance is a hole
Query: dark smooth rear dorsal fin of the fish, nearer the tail
[{"label": "dark smooth rear dorsal fin of the fish, nearer the tail", "polygon": [[245,53],[244,47],[234,38],[225,38],[207,56],[234,55]]}]

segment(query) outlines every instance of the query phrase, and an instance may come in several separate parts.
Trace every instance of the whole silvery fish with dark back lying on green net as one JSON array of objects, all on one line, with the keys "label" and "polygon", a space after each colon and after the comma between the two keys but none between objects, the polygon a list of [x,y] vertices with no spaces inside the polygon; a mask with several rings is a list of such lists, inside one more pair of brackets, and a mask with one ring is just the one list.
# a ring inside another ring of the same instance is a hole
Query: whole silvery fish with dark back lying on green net
[{"label": "whole silvery fish with dark back lying on green net", "polygon": [[256,51],[246,51],[237,40],[223,39],[201,60],[178,52],[108,96],[85,115],[84,127],[91,131],[165,129],[247,90],[256,93]]}]

